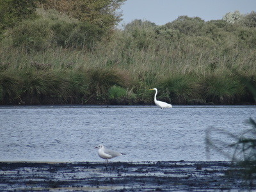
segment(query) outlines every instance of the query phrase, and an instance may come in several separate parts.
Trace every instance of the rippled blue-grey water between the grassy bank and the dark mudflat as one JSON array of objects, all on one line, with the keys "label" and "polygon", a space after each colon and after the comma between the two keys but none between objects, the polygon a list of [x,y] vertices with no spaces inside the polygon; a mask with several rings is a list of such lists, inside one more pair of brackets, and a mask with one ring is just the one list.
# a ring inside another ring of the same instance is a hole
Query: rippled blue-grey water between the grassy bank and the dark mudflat
[{"label": "rippled blue-grey water between the grassy bank and the dark mudflat", "polygon": [[110,161],[226,161],[206,152],[206,130],[223,129],[212,138],[232,143],[225,132],[252,128],[246,120],[255,112],[254,106],[0,107],[0,161],[104,161],[94,148],[100,143],[127,154]]}]

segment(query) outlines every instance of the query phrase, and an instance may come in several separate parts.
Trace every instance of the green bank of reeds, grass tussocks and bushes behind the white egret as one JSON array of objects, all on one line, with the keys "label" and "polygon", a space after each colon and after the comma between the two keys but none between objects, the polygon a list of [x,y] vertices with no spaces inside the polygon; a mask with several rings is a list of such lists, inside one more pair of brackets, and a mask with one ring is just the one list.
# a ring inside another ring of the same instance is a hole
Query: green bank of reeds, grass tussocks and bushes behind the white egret
[{"label": "green bank of reeds, grass tussocks and bushes behind the white egret", "polygon": [[120,15],[99,24],[63,6],[1,28],[1,104],[153,104],[154,87],[172,104],[255,103],[241,80],[256,83],[255,12],[116,28]]}]

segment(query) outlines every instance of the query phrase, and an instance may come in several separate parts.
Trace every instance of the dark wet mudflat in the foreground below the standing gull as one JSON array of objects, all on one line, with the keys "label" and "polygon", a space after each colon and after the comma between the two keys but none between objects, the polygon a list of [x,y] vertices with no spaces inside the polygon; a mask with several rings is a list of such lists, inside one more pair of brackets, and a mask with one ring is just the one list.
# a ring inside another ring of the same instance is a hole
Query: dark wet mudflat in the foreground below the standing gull
[{"label": "dark wet mudflat in the foreground below the standing gull", "polygon": [[230,162],[0,163],[0,191],[248,191]]}]

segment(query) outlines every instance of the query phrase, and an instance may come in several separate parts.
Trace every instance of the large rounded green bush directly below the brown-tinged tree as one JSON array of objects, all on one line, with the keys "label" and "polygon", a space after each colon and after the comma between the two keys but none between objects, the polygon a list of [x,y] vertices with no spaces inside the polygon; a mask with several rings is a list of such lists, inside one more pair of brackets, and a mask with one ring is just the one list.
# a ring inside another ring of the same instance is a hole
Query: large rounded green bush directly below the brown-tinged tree
[{"label": "large rounded green bush directly below the brown-tinged tree", "polygon": [[24,20],[19,26],[10,29],[13,45],[23,46],[29,51],[44,51],[49,47],[72,47],[74,49],[93,49],[103,30],[88,22],[79,22],[50,10],[38,10],[34,20]]}]

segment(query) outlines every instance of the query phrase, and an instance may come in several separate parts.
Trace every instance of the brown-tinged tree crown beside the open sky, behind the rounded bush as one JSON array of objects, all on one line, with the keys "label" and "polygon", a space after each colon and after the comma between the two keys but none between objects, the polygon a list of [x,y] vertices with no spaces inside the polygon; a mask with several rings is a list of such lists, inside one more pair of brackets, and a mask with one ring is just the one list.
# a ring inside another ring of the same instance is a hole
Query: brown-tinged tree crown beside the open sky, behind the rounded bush
[{"label": "brown-tinged tree crown beside the open sky, behind the rounded bush", "polygon": [[96,24],[100,28],[111,29],[122,19],[117,12],[125,0],[45,0],[45,9],[56,9],[80,21]]}]

